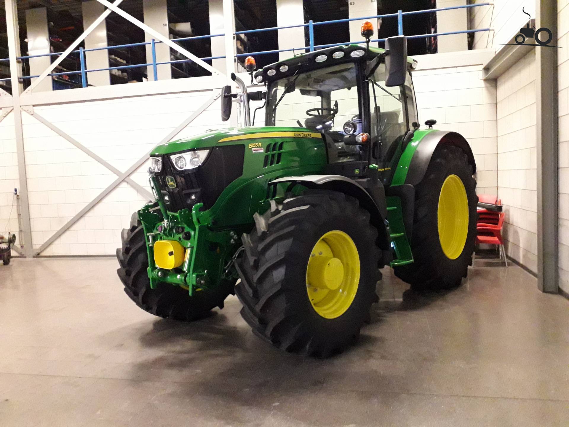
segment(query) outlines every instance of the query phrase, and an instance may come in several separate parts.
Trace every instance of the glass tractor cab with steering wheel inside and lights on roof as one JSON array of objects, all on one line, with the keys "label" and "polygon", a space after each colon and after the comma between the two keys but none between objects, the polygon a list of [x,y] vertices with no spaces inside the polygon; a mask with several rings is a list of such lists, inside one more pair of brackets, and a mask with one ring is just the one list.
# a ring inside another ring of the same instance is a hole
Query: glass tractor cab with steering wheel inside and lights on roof
[{"label": "glass tractor cab with steering wheel inside and lights on roof", "polygon": [[[403,142],[418,127],[411,80],[417,63],[407,59],[405,43],[396,44],[391,51],[358,44],[331,47],[257,71],[255,81],[267,87],[265,125],[319,132],[330,173],[361,176],[372,166],[389,183]],[[399,69],[389,68],[387,58]]]}]

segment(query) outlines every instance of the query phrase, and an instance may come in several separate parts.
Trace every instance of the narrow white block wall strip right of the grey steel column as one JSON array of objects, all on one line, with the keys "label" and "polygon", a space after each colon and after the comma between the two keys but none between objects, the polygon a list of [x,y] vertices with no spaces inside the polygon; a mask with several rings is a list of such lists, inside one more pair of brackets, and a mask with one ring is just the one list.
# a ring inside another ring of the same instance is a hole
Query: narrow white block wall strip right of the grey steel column
[{"label": "narrow white block wall strip right of the grey steel column", "polygon": [[[569,42],[569,5],[559,0],[559,46]],[[569,293],[569,55],[560,48],[558,55],[559,90],[559,287]]]}]

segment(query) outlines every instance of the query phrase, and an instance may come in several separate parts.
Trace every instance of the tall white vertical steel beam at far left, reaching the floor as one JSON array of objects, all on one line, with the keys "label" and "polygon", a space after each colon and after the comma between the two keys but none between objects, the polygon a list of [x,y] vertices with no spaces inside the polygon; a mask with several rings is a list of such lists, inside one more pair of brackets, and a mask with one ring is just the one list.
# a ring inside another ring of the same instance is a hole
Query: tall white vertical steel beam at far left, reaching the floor
[{"label": "tall white vertical steel beam at far left, reaching the floor", "polygon": [[30,223],[30,203],[28,202],[28,181],[26,176],[26,155],[24,153],[24,136],[22,131],[22,111],[20,110],[20,83],[18,78],[22,76],[22,67],[18,64],[20,56],[20,36],[18,30],[18,10],[16,0],[6,0],[6,26],[8,33],[8,51],[10,57],[10,79],[12,83],[12,100],[14,105],[14,130],[16,135],[16,153],[18,156],[18,179],[21,201],[21,220],[23,242],[23,254],[31,257],[32,232]]}]

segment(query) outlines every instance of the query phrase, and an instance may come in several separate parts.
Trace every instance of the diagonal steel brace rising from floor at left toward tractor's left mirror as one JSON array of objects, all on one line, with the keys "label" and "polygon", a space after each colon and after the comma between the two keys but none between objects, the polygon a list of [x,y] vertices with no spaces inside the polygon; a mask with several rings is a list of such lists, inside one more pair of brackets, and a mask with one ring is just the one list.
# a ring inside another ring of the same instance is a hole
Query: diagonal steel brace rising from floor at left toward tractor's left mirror
[{"label": "diagonal steel brace rising from floor at left toward tractor's left mirror", "polygon": [[[172,132],[167,134],[167,136],[164,137],[162,139],[162,141],[160,141],[157,145],[162,145],[166,142],[171,141],[172,138],[174,138],[176,135],[178,135],[180,132],[182,132],[182,130],[184,130],[184,128],[186,126],[188,126],[192,121],[194,121],[197,118],[197,116],[199,116],[201,113],[203,113],[220,96],[221,96],[221,94],[218,94],[218,95],[212,96],[207,101],[205,101],[200,106],[200,108],[195,110],[195,112],[193,112],[188,118],[186,118],[182,123],[180,123],[176,129],[172,130]],[[64,232],[66,232],[69,229],[69,227],[71,227],[73,224],[75,224],[77,221],[79,221],[79,219],[81,217],[83,217],[83,215],[85,215],[85,213],[89,212],[93,208],[93,206],[95,206],[98,202],[100,202],[102,199],[104,199],[106,195],[108,195],[111,191],[113,191],[113,189],[115,187],[117,187],[118,184],[120,184],[123,180],[125,180],[128,176],[130,176],[130,174],[132,174],[135,170],[137,170],[139,167],[141,167],[143,165],[143,163],[148,160],[148,157],[149,157],[150,153],[152,153],[152,151],[154,151],[154,149],[150,150],[148,153],[146,153],[140,159],[138,159],[138,161],[136,163],[134,163],[133,166],[129,167],[129,169],[127,169],[125,171],[125,173],[119,175],[118,178],[116,180],[114,180],[114,182],[112,184],[110,184],[110,186],[106,187],[105,190],[103,190],[87,206],[85,206],[83,209],[81,209],[81,211],[77,212],[77,214],[74,217],[72,217],[72,219],[67,221],[67,223],[63,227],[61,227],[59,230],[57,230],[53,236],[51,236],[49,239],[47,239],[44,242],[44,244],[42,246],[40,246],[35,251],[34,256],[42,253],[59,236],[61,236]],[[154,199],[154,196],[152,196],[150,198],[150,200],[152,200],[152,199]]]}]

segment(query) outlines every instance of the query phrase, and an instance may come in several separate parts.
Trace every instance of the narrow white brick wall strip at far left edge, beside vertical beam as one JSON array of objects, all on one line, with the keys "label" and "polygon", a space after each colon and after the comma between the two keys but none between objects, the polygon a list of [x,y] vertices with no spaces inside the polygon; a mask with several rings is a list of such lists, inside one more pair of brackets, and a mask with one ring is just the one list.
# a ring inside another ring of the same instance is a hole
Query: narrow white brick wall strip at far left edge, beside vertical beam
[{"label": "narrow white brick wall strip at far left edge, beside vertical beam", "polygon": [[[18,235],[14,188],[19,188],[19,179],[14,112],[11,112],[0,122],[0,235],[5,237],[8,232]],[[18,241],[17,244],[19,243]]]}]

